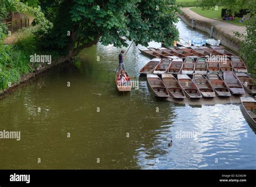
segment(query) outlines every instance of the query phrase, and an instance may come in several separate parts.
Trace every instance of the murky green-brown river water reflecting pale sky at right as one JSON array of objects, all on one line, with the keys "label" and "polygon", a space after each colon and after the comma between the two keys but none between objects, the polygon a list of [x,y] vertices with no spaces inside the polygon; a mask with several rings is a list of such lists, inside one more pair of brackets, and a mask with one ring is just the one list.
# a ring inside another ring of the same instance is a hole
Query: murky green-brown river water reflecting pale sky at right
[{"label": "murky green-brown river water reflecting pale sky at right", "polygon": [[[185,40],[207,38],[177,27]],[[0,139],[0,169],[256,169],[256,136],[239,104],[155,98],[138,75],[150,60],[140,47],[125,60],[139,81],[131,93],[116,89],[120,49],[97,44],[1,99],[0,131],[21,140]]]}]

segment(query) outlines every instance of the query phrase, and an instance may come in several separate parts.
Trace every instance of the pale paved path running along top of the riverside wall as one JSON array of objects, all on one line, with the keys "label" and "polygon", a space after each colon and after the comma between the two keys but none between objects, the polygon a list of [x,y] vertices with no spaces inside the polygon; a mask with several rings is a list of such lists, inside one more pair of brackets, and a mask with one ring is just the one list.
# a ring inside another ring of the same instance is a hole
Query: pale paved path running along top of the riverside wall
[{"label": "pale paved path running along top of the riverside wall", "polygon": [[[201,21],[206,21],[208,23],[211,23],[216,28],[219,28],[224,33],[230,34],[232,37],[238,38],[233,32],[238,31],[239,33],[245,33],[246,27],[245,26],[238,26],[234,24],[228,23],[228,21],[219,21],[215,19],[206,18],[203,16],[200,16],[198,13],[190,10],[191,7],[184,7],[180,8],[181,11],[183,11],[186,15],[188,15],[191,19],[197,19]],[[240,38],[239,38],[240,39]]]}]

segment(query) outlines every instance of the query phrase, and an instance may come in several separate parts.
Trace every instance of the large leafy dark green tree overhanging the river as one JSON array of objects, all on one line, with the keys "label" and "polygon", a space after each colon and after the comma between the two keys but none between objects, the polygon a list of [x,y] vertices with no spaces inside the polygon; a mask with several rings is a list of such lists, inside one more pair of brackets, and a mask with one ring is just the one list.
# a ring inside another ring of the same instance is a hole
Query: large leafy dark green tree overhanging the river
[{"label": "large leafy dark green tree overhanging the river", "polygon": [[49,34],[38,33],[42,47],[57,48],[70,57],[98,41],[127,46],[123,37],[143,46],[153,40],[170,46],[178,40],[174,0],[44,0],[41,6],[53,23]]}]

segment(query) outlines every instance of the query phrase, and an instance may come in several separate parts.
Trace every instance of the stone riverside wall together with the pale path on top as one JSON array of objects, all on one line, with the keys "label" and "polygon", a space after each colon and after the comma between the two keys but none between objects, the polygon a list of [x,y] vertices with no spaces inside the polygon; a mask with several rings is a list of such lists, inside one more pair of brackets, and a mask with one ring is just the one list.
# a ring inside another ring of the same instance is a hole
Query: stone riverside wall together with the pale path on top
[{"label": "stone riverside wall together with the pale path on top", "polygon": [[181,20],[183,20],[187,25],[197,28],[200,31],[208,34],[212,33],[212,37],[214,39],[221,40],[221,45],[240,54],[239,48],[243,38],[237,37],[234,32],[239,32],[241,34],[245,33],[245,26],[233,25],[230,23],[225,23],[224,21],[206,18],[198,15],[198,13],[190,9],[191,7],[180,8],[181,13],[178,16]]}]

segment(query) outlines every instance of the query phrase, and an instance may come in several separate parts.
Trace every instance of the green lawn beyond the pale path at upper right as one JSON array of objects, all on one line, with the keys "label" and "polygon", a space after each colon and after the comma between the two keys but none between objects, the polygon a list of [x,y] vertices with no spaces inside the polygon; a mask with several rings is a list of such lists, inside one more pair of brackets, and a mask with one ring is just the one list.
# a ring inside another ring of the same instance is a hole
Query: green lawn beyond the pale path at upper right
[{"label": "green lawn beyond the pale path at upper right", "polygon": [[218,8],[218,10],[215,10],[215,9],[203,10],[202,8],[191,8],[190,10],[192,10],[206,18],[224,21],[224,22],[231,23],[231,24],[238,25],[238,26],[245,26],[245,23],[239,23],[239,20],[241,20],[241,18],[235,18],[234,20],[231,20],[231,21],[223,20],[221,17],[221,9],[223,9],[223,7],[220,6]]}]

